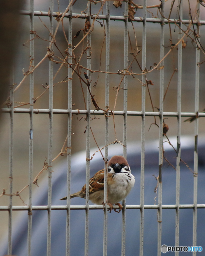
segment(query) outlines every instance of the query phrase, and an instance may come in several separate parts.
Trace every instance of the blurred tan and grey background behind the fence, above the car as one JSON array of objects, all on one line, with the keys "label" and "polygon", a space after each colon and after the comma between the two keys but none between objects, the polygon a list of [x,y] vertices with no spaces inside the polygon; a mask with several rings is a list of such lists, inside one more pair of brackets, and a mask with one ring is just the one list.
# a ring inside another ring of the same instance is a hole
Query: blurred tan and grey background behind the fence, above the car
[{"label": "blurred tan and grey background behind the fence, above the car", "polygon": [[[49,1],[34,1],[34,10],[48,11]],[[59,5],[58,5],[59,3]],[[138,5],[143,5],[142,0],[135,0],[135,3]],[[67,1],[55,1],[54,2],[54,11],[63,12],[67,7]],[[158,0],[148,0],[147,5],[158,5],[160,1]],[[196,4],[197,1],[191,1],[191,12],[193,17],[196,17]],[[99,4],[92,5],[92,14],[95,14],[99,10]],[[123,16],[124,4],[122,8],[115,8],[110,4],[111,11],[110,15],[120,15]],[[171,1],[166,2],[165,16],[169,16]],[[23,10],[29,10],[29,1],[26,1]],[[80,13],[87,8],[87,1],[77,0],[73,6],[73,13]],[[177,3],[174,5],[171,19],[177,18]],[[147,17],[158,17],[160,14],[157,12],[157,8],[149,9],[153,12],[147,13]],[[106,14],[106,9],[103,8],[104,14]],[[101,13],[100,13],[101,14]],[[137,9],[135,17],[142,17],[142,9]],[[41,20],[40,20],[41,19]],[[48,17],[34,17],[34,30],[39,35],[39,37],[49,40],[49,31],[46,26],[49,27]],[[183,4],[183,19],[189,19],[189,8],[187,2],[184,1]],[[205,9],[201,7],[201,20],[205,20]],[[102,20],[99,20],[103,23]],[[64,18],[64,28],[66,35],[68,35],[68,19]],[[16,48],[17,52],[14,54],[14,83],[17,85],[23,79],[23,69],[24,72],[28,70],[29,67],[29,27],[30,17],[29,16],[20,16],[20,25],[17,34]],[[46,26],[45,26],[45,25]],[[57,21],[54,21],[54,28],[57,24]],[[137,38],[137,44],[139,49],[142,47],[142,22],[133,22],[134,29]],[[76,35],[77,31],[84,28],[85,19],[73,19],[73,37]],[[147,68],[153,66],[154,63],[160,61],[160,24],[147,23]],[[184,29],[186,27],[184,26]],[[204,26],[200,27],[200,41],[204,45],[205,41],[205,28]],[[172,31],[172,42],[174,44],[178,41],[178,28],[171,24]],[[133,32],[132,24],[129,23],[129,35],[130,41],[132,43],[132,48],[136,50],[135,45],[135,35]],[[193,36],[193,35],[192,35]],[[83,32],[78,36],[78,38],[73,40],[73,45],[76,45],[81,38],[83,37]],[[165,54],[170,49],[170,31],[169,25],[165,24]],[[194,112],[194,95],[195,95],[195,56],[196,49],[194,48],[191,39],[187,39],[186,48],[183,48],[182,51],[182,112]],[[92,32],[91,47],[91,69],[99,70],[100,68],[100,50],[103,45],[104,40],[104,27],[101,27],[100,24],[95,22],[94,30]],[[62,26],[59,27],[58,33],[56,36],[56,44],[59,49],[64,52],[67,48],[67,43],[63,34]],[[36,65],[46,54],[47,46],[49,43],[42,39],[36,38],[34,40],[34,64]],[[82,47],[76,48],[75,55],[79,57],[79,54],[82,51]],[[130,44],[128,52],[132,52]],[[60,53],[55,50],[55,55],[60,56]],[[55,57],[56,58],[56,57]],[[132,55],[129,55],[129,61],[132,61]],[[56,58],[57,59],[57,58]],[[137,57],[140,65],[142,59],[142,51]],[[204,60],[204,56],[201,54],[201,61]],[[86,66],[87,63],[87,54],[84,54],[81,59],[81,65]],[[49,83],[49,60],[46,59],[34,72],[34,97],[37,98],[40,94],[44,92],[43,86],[46,86],[46,83]],[[54,65],[54,74],[57,72],[60,64]],[[177,69],[178,66],[178,50],[175,48],[173,53],[165,59],[164,63],[164,90],[166,90],[170,78],[174,69]],[[118,70],[123,70],[124,68],[124,23],[120,21],[110,21],[110,72],[117,72]],[[105,70],[105,44],[102,48],[102,57],[101,57],[101,70]],[[136,62],[133,62],[132,71],[140,73],[140,68]],[[205,108],[204,96],[204,63],[200,66],[200,92],[199,92],[199,111],[202,111]],[[153,102],[153,106],[159,107],[159,70],[155,70],[147,74],[147,80],[151,80],[153,85],[149,85],[150,94]],[[62,80],[65,80],[67,77],[68,69],[66,67],[61,68],[60,72],[57,74],[54,83],[58,83]],[[98,77],[97,73],[94,73],[91,77],[91,89],[92,94],[95,95],[97,104],[105,108],[105,74],[100,73],[99,79],[96,87],[94,83]],[[141,76],[137,76],[141,81]],[[119,75],[110,75],[110,109],[113,110],[116,91],[115,87],[119,85],[121,76]],[[72,94],[72,104],[73,109],[85,109],[83,93],[81,90],[80,82],[76,74],[73,76],[73,94]],[[42,86],[43,85],[43,86]],[[8,85],[9,86],[9,85]],[[142,84],[134,79],[131,76],[128,76],[128,111],[141,111],[141,86]],[[123,84],[122,86],[123,87]],[[83,84],[83,90],[85,97],[87,97],[86,86]],[[68,96],[67,96],[67,83],[58,83],[54,86],[54,109],[67,109],[68,105]],[[21,105],[25,102],[29,102],[29,78],[20,86],[20,88],[14,94],[15,106]],[[6,105],[3,106],[7,108]],[[29,104],[23,106],[23,108],[29,108]],[[48,91],[40,97],[34,105],[36,109],[48,109]],[[94,109],[94,106],[91,105],[91,109]],[[123,110],[123,90],[119,91],[116,110]],[[146,111],[152,111],[152,106],[150,103],[150,98],[148,91],[146,92]],[[157,109],[155,109],[157,111]],[[177,111],[177,72],[174,73],[172,80],[169,85],[168,92],[164,101],[164,111],[165,112],[176,112]],[[83,151],[86,149],[86,135],[84,134],[86,122],[84,119],[80,118],[82,115],[74,115],[72,118],[72,154]],[[85,116],[84,116],[85,117]],[[92,116],[94,117],[94,116]],[[99,118],[99,116],[97,116]],[[181,134],[194,136],[194,122],[183,122],[187,118],[182,118],[181,123]],[[149,127],[151,123],[154,122],[153,117],[146,117],[146,140],[155,140],[159,137],[159,129],[156,125],[152,125],[151,129]],[[157,118],[158,122],[158,118]],[[169,126],[169,131],[167,133],[168,137],[177,137],[177,118],[169,117],[165,120]],[[9,185],[9,125],[10,117],[8,113],[2,114],[1,126],[0,126],[0,190],[7,189]],[[205,133],[205,120],[204,118],[199,119],[199,134],[203,136]],[[100,116],[100,119],[94,119],[91,121],[91,128],[93,130],[95,139],[100,147],[103,147],[104,142],[104,133],[105,133],[105,118],[103,115]],[[118,141],[123,140],[123,117],[115,116],[115,129],[116,136]],[[149,130],[149,131],[148,131]],[[67,115],[66,114],[54,114],[53,116],[53,158],[58,155],[60,152],[64,141],[67,136]],[[45,157],[48,156],[48,115],[47,114],[34,114],[34,163],[33,163],[33,177],[35,177],[39,171],[43,168]],[[29,114],[15,113],[14,114],[14,169],[13,169],[13,191],[19,191],[28,184],[28,146],[29,146]],[[140,116],[128,116],[128,126],[127,126],[127,140],[128,142],[135,141],[140,143],[141,139],[141,117]],[[114,125],[113,119],[109,119],[109,143],[115,141]],[[95,141],[91,136],[90,147],[96,147]],[[115,145],[110,147],[115,148]],[[95,151],[91,150],[91,154]],[[58,157],[53,163],[61,163],[66,158],[66,156]],[[55,175],[55,174],[54,174]],[[47,176],[45,171],[42,174],[43,178]],[[33,185],[34,189],[36,186]],[[24,202],[27,203],[28,190],[24,190],[21,194]],[[0,205],[8,205],[8,197],[3,196],[0,198]],[[13,197],[13,205],[22,205],[22,201],[19,197]],[[14,212],[13,216],[17,215],[17,212]],[[0,239],[4,237],[5,231],[8,226],[8,213],[5,211],[0,211],[1,223],[1,232]]]}]

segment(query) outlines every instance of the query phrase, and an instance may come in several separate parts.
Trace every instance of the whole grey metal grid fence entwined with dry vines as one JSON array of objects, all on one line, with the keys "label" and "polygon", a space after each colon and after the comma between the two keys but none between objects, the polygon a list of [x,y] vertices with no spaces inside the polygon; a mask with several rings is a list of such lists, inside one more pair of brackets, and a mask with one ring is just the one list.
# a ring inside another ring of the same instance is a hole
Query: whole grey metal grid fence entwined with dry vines
[{"label": "whole grey metal grid fence entwined with dry vines", "polygon": [[[34,10],[34,0],[30,0],[30,11],[21,11],[22,15],[30,16],[30,30],[34,31],[34,16],[46,16],[50,21],[50,41],[53,40],[53,22],[54,17],[61,18],[62,16],[67,17],[69,19],[69,32],[68,32],[68,62],[72,63],[72,46],[73,46],[73,27],[72,17],[76,17],[78,19],[87,18],[91,23],[94,19],[100,19],[106,21],[106,65],[105,65],[105,105],[109,105],[109,76],[110,76],[110,69],[109,69],[109,56],[110,56],[110,20],[119,20],[124,24],[124,71],[123,74],[126,74],[126,70],[128,70],[128,11],[129,5],[128,2],[125,2],[125,10],[124,16],[111,16],[110,15],[110,1],[106,1],[106,14],[105,15],[90,15],[90,8],[88,8],[87,14],[76,14],[72,12],[72,3],[73,1],[69,2],[67,10],[68,12],[64,12],[63,14],[54,12],[53,8],[53,0],[50,0],[50,7],[49,12],[43,11],[35,11]],[[103,1],[102,1],[103,3]],[[88,3],[90,5],[91,2]],[[182,1],[180,1],[182,5]],[[147,73],[147,65],[146,65],[146,28],[147,23],[156,23],[161,25],[161,41],[160,41],[160,60],[159,67],[164,66],[164,33],[165,33],[165,24],[177,24],[179,29],[182,31],[183,24],[189,25],[191,24],[190,20],[182,19],[183,13],[182,8],[179,8],[179,15],[181,20],[174,20],[174,19],[166,19],[164,18],[164,5],[165,1],[161,1],[161,18],[148,18],[147,17],[147,1],[143,1],[143,17],[135,17],[132,21],[135,22],[142,22],[143,23],[143,34],[142,34],[142,84],[146,85],[146,73]],[[193,21],[193,24],[197,30],[194,32],[198,35],[200,34],[200,25],[205,25],[205,21],[200,20],[200,2],[198,2],[198,19]],[[160,69],[160,108],[159,111],[151,112],[146,111],[145,109],[145,93],[146,93],[146,86],[142,86],[142,105],[141,111],[127,111],[127,88],[128,88],[128,76],[125,75],[123,82],[124,82],[124,110],[118,111],[115,110],[115,115],[121,115],[124,119],[123,124],[123,144],[125,147],[123,148],[123,155],[124,157],[127,156],[126,153],[126,145],[127,145],[127,116],[141,116],[141,190],[140,190],[140,205],[129,205],[126,206],[126,209],[139,209],[141,212],[140,218],[140,252],[139,255],[143,255],[143,229],[144,229],[144,209],[157,209],[158,210],[158,256],[161,255],[161,236],[162,236],[162,209],[176,209],[176,244],[175,246],[179,246],[179,211],[181,208],[192,208],[193,209],[193,246],[197,246],[197,209],[198,208],[205,208],[205,205],[197,204],[197,173],[198,173],[198,155],[197,155],[197,138],[198,138],[198,117],[204,117],[205,113],[199,113],[199,75],[200,75],[200,38],[198,37],[197,47],[196,47],[196,61],[193,63],[195,66],[195,111],[194,112],[181,112],[181,80],[182,80],[182,38],[183,32],[179,33],[179,44],[178,44],[178,94],[177,94],[177,112],[164,112],[163,111],[163,97],[164,97],[164,69]],[[30,66],[33,65],[34,60],[34,37],[35,34],[30,34]],[[91,76],[91,33],[87,34],[87,75],[90,78]],[[50,52],[53,51],[53,44],[49,46]],[[68,78],[72,77],[72,69],[68,68]],[[121,73],[122,74],[122,73]],[[30,72],[30,103],[34,101],[34,73]],[[49,61],[49,109],[35,109],[34,104],[30,104],[30,108],[15,108],[14,109],[14,91],[15,89],[12,88],[10,90],[10,106],[8,109],[4,108],[3,112],[8,113],[10,115],[10,151],[9,151],[9,179],[10,179],[10,186],[9,186],[9,193],[13,193],[12,189],[12,170],[13,170],[13,126],[14,126],[14,115],[15,113],[27,113],[30,116],[30,133],[29,133],[29,203],[28,206],[13,206],[12,205],[12,196],[10,196],[9,206],[0,206],[1,211],[8,211],[9,215],[9,223],[8,223],[8,255],[12,255],[12,211],[15,210],[26,210],[28,211],[28,255],[31,255],[31,235],[32,235],[32,211],[34,210],[45,210],[48,212],[48,229],[47,229],[47,256],[50,255],[51,251],[51,211],[55,209],[59,210],[66,210],[67,211],[67,223],[66,223],[66,255],[69,255],[69,223],[70,223],[70,210],[76,209],[76,206],[70,205],[70,161],[71,161],[71,119],[72,115],[79,114],[79,115],[86,115],[86,205],[85,206],[78,206],[78,209],[85,210],[85,255],[88,255],[88,240],[89,240],[89,226],[88,226],[88,216],[89,216],[89,209],[102,209],[101,207],[96,206],[89,206],[89,165],[90,161],[90,120],[91,117],[94,115],[101,115],[104,116],[105,111],[103,110],[91,110],[91,97],[89,90],[87,89],[87,109],[86,110],[72,110],[72,79],[68,81],[68,109],[53,109],[53,62]],[[12,81],[12,84],[14,81]],[[34,130],[34,115],[35,114],[48,114],[49,115],[49,155],[48,155],[48,204],[47,206],[32,206],[32,182],[33,182],[33,130]],[[68,139],[67,139],[67,205],[66,206],[52,206],[51,199],[52,199],[52,127],[53,127],[53,114],[67,114],[68,116]],[[107,112],[107,115],[112,114],[111,111]],[[146,116],[157,116],[159,117],[159,186],[158,186],[158,205],[144,205],[144,165],[145,165],[145,118]],[[163,118],[164,117],[176,117],[177,118],[177,160],[176,160],[176,204],[175,205],[162,205],[162,178],[161,178],[161,168],[163,162]],[[197,116],[195,120],[195,151],[194,151],[194,202],[192,205],[181,205],[179,202],[179,195],[180,195],[180,136],[181,136],[181,117],[194,117]],[[108,121],[109,116],[105,116],[105,145],[108,145]],[[108,158],[108,147],[105,147],[105,158]],[[105,176],[105,198],[106,198],[106,176]],[[123,202],[125,206],[125,201]],[[123,208],[122,211],[122,255],[125,255],[125,219],[126,219],[126,209]],[[103,255],[107,255],[107,206],[104,210],[104,247],[103,247]],[[179,252],[176,252],[175,255],[178,255]],[[193,252],[193,255],[196,255],[196,252]]]}]

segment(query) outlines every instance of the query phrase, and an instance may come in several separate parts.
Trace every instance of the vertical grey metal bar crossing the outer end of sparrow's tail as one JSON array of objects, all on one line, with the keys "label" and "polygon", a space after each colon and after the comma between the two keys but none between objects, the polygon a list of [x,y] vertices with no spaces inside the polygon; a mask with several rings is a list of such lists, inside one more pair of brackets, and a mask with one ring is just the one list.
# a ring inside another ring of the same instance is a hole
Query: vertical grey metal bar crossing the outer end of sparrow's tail
[{"label": "vertical grey metal bar crossing the outer end of sparrow's tail", "polygon": [[[71,0],[69,0],[70,3]],[[72,8],[69,8],[68,20],[68,62],[72,63],[72,41],[73,41],[73,22],[72,22]],[[72,77],[72,69],[68,69],[68,77]],[[71,168],[71,121],[72,121],[72,79],[68,81],[68,149],[67,149],[67,218],[66,218],[66,256],[70,255],[70,168]]]}]

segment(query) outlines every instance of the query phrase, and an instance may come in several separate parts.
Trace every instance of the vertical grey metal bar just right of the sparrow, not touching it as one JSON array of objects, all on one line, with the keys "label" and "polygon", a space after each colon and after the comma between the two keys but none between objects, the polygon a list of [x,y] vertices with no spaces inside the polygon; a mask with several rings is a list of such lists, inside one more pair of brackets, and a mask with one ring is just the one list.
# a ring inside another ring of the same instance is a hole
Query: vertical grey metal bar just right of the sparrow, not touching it
[{"label": "vertical grey metal bar just right of the sparrow, not touching it", "polygon": [[[146,68],[147,44],[147,0],[143,1],[143,33],[142,33],[142,70]],[[146,76],[142,75],[142,84],[146,84]],[[141,174],[140,174],[140,241],[139,256],[144,252],[144,184],[145,184],[145,96],[146,87],[142,86],[142,124],[141,124]]]}]

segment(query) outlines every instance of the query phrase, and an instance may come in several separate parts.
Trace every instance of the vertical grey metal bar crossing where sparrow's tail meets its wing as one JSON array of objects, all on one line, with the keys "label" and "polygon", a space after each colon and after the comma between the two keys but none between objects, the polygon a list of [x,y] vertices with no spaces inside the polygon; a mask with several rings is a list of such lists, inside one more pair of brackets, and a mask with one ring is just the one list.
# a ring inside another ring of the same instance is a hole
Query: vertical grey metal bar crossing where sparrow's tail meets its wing
[{"label": "vertical grey metal bar crossing where sparrow's tail meets its wing", "polygon": [[[88,2],[88,15],[91,12],[91,2]],[[91,24],[91,17],[88,17]],[[91,31],[87,36],[87,68],[91,69]],[[87,71],[90,79],[90,71]],[[90,88],[90,84],[89,84]],[[86,158],[90,158],[90,93],[87,89],[87,125],[86,125]],[[85,210],[85,256],[88,256],[88,234],[89,234],[89,179],[90,179],[90,161],[86,160],[86,210]]]}]

